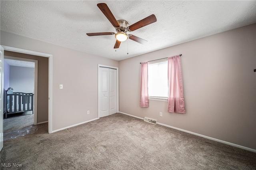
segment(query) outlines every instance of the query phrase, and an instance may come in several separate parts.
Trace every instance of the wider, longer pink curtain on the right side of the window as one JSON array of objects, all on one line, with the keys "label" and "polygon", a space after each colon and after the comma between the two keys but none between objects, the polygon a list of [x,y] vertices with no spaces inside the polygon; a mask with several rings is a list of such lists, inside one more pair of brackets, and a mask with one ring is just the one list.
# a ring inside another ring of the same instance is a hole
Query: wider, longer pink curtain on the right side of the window
[{"label": "wider, longer pink curtain on the right side of the window", "polygon": [[168,58],[168,112],[186,113],[180,55]]}]

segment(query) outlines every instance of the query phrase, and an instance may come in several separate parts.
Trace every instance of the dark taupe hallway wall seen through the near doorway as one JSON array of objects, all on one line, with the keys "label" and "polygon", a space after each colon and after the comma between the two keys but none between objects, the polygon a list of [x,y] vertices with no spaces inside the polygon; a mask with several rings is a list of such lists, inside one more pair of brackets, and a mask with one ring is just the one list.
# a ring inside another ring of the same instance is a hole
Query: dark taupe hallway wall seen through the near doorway
[{"label": "dark taupe hallway wall seen through the near doorway", "polygon": [[37,123],[48,121],[48,57],[12,51],[4,51],[4,55],[38,60]]}]

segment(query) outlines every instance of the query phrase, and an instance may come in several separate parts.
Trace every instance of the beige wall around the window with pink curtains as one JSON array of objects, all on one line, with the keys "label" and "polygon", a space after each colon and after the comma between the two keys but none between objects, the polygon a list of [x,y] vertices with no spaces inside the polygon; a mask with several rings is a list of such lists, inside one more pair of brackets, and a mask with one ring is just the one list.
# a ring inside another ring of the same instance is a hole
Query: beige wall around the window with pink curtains
[{"label": "beige wall around the window with pink curtains", "polygon": [[[120,61],[119,111],[256,149],[255,30],[253,24]],[[162,101],[141,108],[140,62],[179,54],[186,114],[168,113]]]}]

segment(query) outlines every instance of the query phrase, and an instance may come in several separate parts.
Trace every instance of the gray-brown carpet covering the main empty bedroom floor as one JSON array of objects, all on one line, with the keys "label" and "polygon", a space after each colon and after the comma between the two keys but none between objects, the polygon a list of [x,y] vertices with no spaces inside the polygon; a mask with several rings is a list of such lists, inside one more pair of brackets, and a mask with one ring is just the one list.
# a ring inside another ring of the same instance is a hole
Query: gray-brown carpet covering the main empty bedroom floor
[{"label": "gray-brown carpet covering the main empty bedroom floor", "polygon": [[[68,119],[68,118],[67,118]],[[26,170],[256,169],[256,153],[116,113],[48,134],[6,140],[1,163]]]}]

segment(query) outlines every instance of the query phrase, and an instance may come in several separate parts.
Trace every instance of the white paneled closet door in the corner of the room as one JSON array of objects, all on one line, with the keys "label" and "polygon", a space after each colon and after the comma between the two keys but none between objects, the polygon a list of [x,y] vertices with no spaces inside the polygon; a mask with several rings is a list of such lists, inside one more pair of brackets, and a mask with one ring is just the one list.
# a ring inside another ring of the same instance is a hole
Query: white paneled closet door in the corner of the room
[{"label": "white paneled closet door in the corner of the room", "polygon": [[98,114],[112,115],[116,109],[116,69],[99,67],[98,72]]}]

